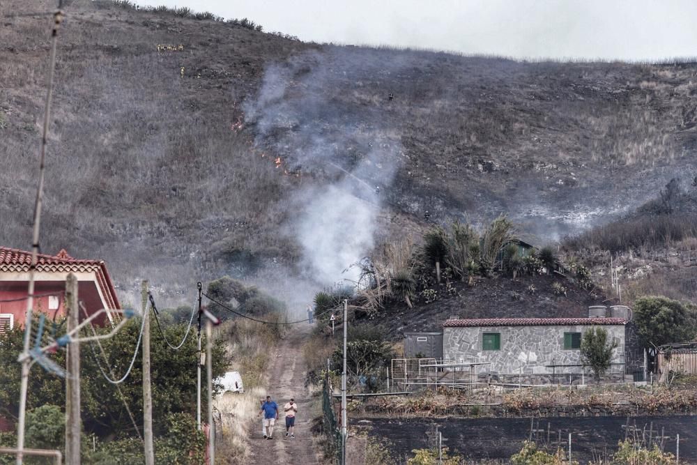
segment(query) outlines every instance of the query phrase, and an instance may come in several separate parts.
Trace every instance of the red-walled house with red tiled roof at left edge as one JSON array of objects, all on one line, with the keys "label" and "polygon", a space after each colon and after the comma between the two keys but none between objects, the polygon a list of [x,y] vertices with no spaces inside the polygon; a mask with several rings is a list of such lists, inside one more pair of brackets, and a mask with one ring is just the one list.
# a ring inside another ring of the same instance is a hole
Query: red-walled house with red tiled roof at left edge
[{"label": "red-walled house with red tiled roof at left edge", "polygon": [[[0,332],[24,325],[30,264],[31,252],[0,247]],[[97,323],[112,321],[115,316],[108,310],[118,310],[121,306],[105,262],[74,259],[66,250],[56,255],[38,254],[34,310],[51,318],[65,316],[63,300],[69,273],[77,277],[77,296],[87,313],[93,314],[103,308],[107,310],[106,317],[98,319]],[[82,320],[82,314],[80,317]]]}]

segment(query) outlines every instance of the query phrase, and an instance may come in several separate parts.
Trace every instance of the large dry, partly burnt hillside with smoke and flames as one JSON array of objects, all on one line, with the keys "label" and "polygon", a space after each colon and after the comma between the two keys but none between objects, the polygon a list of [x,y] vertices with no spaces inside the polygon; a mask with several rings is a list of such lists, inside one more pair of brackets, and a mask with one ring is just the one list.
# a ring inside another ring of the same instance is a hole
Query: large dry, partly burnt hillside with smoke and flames
[{"label": "large dry, partly burnt hillside with smoke and flames", "polygon": [[[1,242],[20,248],[51,19],[7,15],[52,8],[32,3],[0,1]],[[72,1],[59,37],[42,246],[104,258],[121,285],[331,282],[426,211],[507,212],[553,240],[697,175],[694,63],[307,44],[101,1]]]}]

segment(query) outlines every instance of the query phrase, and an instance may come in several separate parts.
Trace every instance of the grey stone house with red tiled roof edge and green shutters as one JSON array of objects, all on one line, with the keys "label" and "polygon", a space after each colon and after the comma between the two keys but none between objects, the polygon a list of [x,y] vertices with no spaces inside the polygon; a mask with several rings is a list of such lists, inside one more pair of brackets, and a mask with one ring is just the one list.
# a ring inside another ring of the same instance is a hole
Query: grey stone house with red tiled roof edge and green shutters
[{"label": "grey stone house with red tiled roof edge and green shutters", "polygon": [[[443,323],[443,362],[502,381],[576,381],[584,370],[581,338],[595,326],[617,342],[608,374],[624,377],[628,319],[492,318],[448,319]],[[588,374],[588,367],[585,367]]]}]

